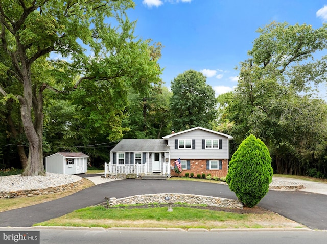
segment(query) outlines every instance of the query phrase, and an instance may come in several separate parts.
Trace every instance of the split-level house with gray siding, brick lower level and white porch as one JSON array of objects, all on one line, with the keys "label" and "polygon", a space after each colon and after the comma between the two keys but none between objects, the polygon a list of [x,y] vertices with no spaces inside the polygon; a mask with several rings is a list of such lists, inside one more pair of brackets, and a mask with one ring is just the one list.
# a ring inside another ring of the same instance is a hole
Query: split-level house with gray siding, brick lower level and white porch
[{"label": "split-level house with gray siding, brick lower level and white porch", "polygon": [[110,151],[105,174],[176,175],[175,161],[180,159],[182,175],[186,172],[227,175],[229,140],[233,137],[214,130],[196,127],[162,139],[122,139]]}]

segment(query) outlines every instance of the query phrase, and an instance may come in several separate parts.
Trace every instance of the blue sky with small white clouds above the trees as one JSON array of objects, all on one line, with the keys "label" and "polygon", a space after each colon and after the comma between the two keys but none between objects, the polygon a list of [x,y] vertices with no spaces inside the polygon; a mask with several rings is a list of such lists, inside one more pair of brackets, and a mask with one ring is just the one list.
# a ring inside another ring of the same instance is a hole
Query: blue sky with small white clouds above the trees
[{"label": "blue sky with small white clouds above the trees", "polygon": [[207,76],[216,95],[237,85],[235,67],[248,58],[255,31],[272,21],[327,21],[327,0],[135,0],[128,11],[135,35],[164,45],[159,64],[165,86],[186,70]]}]

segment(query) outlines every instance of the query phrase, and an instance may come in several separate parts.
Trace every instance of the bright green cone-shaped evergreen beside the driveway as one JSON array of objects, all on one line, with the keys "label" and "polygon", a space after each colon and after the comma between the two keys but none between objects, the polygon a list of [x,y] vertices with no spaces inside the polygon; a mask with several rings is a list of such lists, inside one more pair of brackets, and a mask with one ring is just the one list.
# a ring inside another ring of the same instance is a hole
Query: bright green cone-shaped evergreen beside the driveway
[{"label": "bright green cone-shaped evergreen beside the driveway", "polygon": [[249,135],[229,162],[226,182],[241,202],[254,207],[268,192],[272,174],[268,148],[259,138]]}]

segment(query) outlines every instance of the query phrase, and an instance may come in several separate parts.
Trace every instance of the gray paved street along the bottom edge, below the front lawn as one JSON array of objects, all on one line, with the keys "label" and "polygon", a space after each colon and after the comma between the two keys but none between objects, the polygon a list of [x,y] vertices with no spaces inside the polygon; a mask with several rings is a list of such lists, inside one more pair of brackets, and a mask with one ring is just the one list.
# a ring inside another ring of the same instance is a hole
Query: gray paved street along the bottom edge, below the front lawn
[{"label": "gray paved street along the bottom edge, below the front lawn", "polygon": [[[12,231],[2,229],[0,231]],[[26,229],[15,231],[28,232]],[[31,229],[37,231],[38,229]],[[121,230],[45,230],[40,229],[41,244],[325,244],[326,231],[220,231],[220,232],[186,232],[186,231],[121,231]],[[0,240],[1,240],[0,235]]]}]

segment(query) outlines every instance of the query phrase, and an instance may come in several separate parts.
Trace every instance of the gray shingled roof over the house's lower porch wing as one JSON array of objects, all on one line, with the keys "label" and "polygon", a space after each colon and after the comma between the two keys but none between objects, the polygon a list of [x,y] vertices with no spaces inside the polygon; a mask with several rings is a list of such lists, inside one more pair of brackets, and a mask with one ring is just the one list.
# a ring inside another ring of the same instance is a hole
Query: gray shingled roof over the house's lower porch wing
[{"label": "gray shingled roof over the house's lower porch wing", "polygon": [[165,139],[122,139],[111,152],[168,152]]}]

